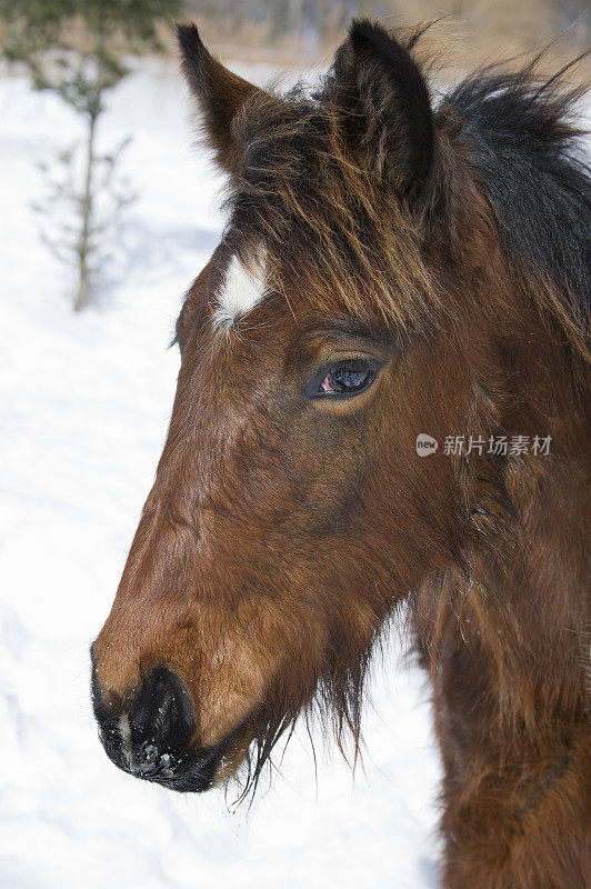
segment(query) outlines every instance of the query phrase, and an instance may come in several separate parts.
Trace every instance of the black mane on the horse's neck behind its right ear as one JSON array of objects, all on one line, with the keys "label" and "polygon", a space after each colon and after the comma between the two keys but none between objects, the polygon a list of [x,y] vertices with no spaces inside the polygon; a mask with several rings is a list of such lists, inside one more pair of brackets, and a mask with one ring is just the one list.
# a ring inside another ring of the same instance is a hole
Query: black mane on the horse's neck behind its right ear
[{"label": "black mane on the horse's neck behind its right ear", "polygon": [[530,64],[472,74],[447,102],[461,117],[462,142],[502,248],[549,277],[572,320],[588,330],[591,168],[575,113],[584,89],[561,88],[570,67],[541,82]]}]

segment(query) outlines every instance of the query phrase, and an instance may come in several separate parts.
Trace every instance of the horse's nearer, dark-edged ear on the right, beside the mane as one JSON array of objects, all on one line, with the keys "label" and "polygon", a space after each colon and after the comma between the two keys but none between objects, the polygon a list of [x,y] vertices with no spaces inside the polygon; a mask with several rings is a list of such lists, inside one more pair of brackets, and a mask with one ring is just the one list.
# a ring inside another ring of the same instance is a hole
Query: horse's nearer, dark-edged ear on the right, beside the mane
[{"label": "horse's nearer, dark-edged ear on the right, beside the mane", "polygon": [[411,56],[420,33],[399,42],[379,24],[355,20],[333,69],[354,148],[402,197],[417,194],[428,182],[434,159],[429,88]]}]

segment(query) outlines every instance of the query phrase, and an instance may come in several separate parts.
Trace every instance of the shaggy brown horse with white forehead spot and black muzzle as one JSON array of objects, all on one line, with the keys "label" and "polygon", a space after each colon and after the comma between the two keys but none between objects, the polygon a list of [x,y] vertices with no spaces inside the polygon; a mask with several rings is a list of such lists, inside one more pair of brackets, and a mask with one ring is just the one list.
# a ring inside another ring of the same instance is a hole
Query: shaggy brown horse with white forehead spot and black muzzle
[{"label": "shaggy brown horse with white forehead spot and black muzzle", "polygon": [[[228,226],[187,294],[167,442],[93,646],[123,770],[258,778],[314,703],[359,740],[408,602],[444,766],[443,885],[589,871],[589,223],[564,72],[432,100],[353,23],[314,93],[179,29]],[[589,885],[589,883],[587,883]]]}]

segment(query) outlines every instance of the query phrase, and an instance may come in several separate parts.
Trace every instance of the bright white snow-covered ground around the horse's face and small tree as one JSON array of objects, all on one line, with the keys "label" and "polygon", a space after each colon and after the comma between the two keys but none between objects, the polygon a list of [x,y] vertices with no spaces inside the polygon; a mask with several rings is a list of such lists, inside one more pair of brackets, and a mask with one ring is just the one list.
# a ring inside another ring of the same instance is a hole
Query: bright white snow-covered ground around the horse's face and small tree
[{"label": "bright white snow-covered ground around the horse's face and small tree", "polygon": [[188,111],[162,64],[113,97],[100,140],[133,134],[126,168],[141,198],[101,306],[74,317],[30,202],[36,162],[77,122],[24,79],[0,79],[0,887],[433,889],[440,766],[423,679],[395,640],[354,781],[333,752],[317,785],[302,729],[268,792],[233,811],[231,795],[123,775],[97,739],[88,647],[163,442],[181,296],[221,228]]}]

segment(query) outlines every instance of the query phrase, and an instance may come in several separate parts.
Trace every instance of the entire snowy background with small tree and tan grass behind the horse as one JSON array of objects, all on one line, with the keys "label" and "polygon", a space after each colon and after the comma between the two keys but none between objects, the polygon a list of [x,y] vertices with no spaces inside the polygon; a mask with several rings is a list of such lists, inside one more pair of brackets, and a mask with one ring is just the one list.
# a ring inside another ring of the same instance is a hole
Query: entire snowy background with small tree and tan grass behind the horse
[{"label": "entire snowy background with small tree and tan grass behind the horse", "polygon": [[[393,632],[354,781],[300,727],[247,811],[104,757],[88,647],[111,606],[172,404],[182,294],[223,227],[174,20],[264,84],[314,80],[353,16],[444,16],[434,91],[589,40],[584,0],[0,0],[0,887],[438,886],[428,689]],[[584,72],[584,68],[583,68]],[[583,108],[584,112],[584,108]],[[317,768],[318,766],[318,768]]]}]

